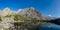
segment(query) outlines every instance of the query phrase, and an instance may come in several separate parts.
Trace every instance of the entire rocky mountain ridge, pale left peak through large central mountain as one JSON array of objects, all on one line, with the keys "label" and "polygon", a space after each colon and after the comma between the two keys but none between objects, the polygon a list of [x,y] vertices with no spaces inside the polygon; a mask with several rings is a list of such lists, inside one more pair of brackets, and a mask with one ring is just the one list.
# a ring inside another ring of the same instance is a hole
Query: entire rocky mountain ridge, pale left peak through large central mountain
[{"label": "entire rocky mountain ridge, pale left peak through large central mountain", "polygon": [[15,15],[15,14],[21,15],[21,16],[27,18],[28,20],[31,20],[31,19],[37,19],[37,20],[51,19],[50,17],[42,16],[42,14],[39,13],[33,7],[19,9],[18,11],[11,11],[11,9],[7,7],[7,8],[4,8],[2,11],[0,11],[0,16]]}]

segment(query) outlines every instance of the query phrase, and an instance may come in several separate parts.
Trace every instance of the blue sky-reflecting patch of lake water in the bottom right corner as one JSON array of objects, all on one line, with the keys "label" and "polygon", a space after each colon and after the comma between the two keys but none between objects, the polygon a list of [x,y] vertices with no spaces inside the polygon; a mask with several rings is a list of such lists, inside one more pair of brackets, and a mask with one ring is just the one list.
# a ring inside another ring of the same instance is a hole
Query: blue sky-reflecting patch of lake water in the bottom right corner
[{"label": "blue sky-reflecting patch of lake water in the bottom right corner", "polygon": [[60,25],[56,24],[43,24],[39,30],[60,30]]}]

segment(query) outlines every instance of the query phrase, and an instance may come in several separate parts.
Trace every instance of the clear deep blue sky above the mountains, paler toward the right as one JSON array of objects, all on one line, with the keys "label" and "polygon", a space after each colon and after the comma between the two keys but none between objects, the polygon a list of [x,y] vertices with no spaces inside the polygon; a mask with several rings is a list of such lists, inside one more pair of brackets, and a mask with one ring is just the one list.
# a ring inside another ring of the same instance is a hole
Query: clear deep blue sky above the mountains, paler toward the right
[{"label": "clear deep blue sky above the mountains, paler toward the right", "polygon": [[43,16],[60,17],[60,0],[0,0],[0,10],[34,7]]}]

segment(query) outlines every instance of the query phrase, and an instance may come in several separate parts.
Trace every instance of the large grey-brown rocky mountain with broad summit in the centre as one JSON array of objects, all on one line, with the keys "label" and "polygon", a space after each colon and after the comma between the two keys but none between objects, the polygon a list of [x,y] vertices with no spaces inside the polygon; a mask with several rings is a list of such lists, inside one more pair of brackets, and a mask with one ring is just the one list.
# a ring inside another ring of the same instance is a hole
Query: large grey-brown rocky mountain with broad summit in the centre
[{"label": "large grey-brown rocky mountain with broad summit in the centre", "polygon": [[31,19],[46,20],[41,13],[39,13],[35,8],[32,7],[20,9],[18,14],[26,17],[29,20]]}]

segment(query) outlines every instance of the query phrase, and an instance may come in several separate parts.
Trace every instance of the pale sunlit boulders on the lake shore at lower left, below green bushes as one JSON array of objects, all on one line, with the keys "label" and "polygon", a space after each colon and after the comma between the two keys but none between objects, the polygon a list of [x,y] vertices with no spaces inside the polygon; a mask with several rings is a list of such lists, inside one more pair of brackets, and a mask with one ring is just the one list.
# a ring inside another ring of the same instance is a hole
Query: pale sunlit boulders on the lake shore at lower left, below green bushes
[{"label": "pale sunlit boulders on the lake shore at lower left, below green bushes", "polygon": [[12,26],[14,26],[14,24],[11,24],[14,22],[14,19],[13,18],[10,18],[10,17],[3,17],[2,18],[2,22],[1,22],[1,25],[4,27],[4,28],[10,28]]}]

